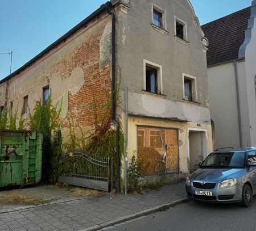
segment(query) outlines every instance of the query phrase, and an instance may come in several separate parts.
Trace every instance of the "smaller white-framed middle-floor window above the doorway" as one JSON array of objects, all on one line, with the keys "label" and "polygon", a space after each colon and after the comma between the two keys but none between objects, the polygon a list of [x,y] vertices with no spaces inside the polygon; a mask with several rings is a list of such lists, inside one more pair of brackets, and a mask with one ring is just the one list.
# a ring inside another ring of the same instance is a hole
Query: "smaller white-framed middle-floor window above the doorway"
[{"label": "smaller white-framed middle-floor window above the doorway", "polygon": [[183,74],[183,97],[185,100],[197,102],[196,77]]}]

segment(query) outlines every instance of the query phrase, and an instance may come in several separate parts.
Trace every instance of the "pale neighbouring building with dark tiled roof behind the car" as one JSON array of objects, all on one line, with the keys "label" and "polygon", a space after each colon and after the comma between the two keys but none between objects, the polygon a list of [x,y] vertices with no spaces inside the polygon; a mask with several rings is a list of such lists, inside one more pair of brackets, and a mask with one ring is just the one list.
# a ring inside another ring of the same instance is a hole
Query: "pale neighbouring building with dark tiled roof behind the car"
[{"label": "pale neighbouring building with dark tiled roof behind the car", "polygon": [[256,145],[256,0],[202,28],[214,148]]}]

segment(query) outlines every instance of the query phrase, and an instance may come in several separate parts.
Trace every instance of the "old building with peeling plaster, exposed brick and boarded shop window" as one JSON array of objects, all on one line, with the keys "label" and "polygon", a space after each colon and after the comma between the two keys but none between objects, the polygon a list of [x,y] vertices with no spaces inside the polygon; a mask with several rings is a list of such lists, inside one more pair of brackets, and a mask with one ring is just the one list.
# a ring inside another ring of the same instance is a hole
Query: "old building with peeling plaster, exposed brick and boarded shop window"
[{"label": "old building with peeling plaster, exposed brick and boarded shop window", "polygon": [[[120,98],[128,91],[128,159],[170,181],[184,177],[212,151],[206,52],[188,0],[115,0],[115,69]],[[0,81],[0,106],[22,113],[48,87],[61,117],[93,129],[90,104],[112,92],[112,15],[106,5]],[[27,98],[26,98],[27,97]],[[121,103],[124,107],[124,103]],[[125,126],[125,114],[118,117]],[[100,111],[99,111],[100,113]],[[23,115],[26,117],[26,113]],[[64,126],[65,127],[65,126]],[[62,132],[67,136],[67,128]],[[150,178],[152,179],[152,178]]]}]

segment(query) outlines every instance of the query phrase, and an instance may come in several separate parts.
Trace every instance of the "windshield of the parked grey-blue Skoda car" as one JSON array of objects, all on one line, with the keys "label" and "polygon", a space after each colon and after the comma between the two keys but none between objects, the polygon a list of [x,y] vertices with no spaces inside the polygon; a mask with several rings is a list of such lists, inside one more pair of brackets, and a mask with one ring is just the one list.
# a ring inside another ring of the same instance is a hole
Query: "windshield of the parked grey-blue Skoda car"
[{"label": "windshield of the parked grey-blue Skoda car", "polygon": [[212,153],[205,159],[201,168],[242,169],[244,164],[245,152]]}]

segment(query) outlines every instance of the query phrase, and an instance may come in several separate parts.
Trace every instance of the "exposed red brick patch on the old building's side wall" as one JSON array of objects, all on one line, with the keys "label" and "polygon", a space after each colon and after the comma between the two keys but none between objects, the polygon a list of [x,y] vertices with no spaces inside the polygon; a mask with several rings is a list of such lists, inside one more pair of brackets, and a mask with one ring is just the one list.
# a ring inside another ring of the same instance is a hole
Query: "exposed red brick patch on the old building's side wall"
[{"label": "exposed red brick patch on the old building's side wall", "polygon": [[[82,66],[85,82],[81,90],[68,96],[68,117],[82,127],[92,126],[94,116],[92,106],[95,103],[98,114],[111,91],[110,65],[100,68],[100,40],[105,29],[102,25],[77,49],[72,57],[72,65],[68,69]],[[66,124],[67,125],[67,124]]]}]

